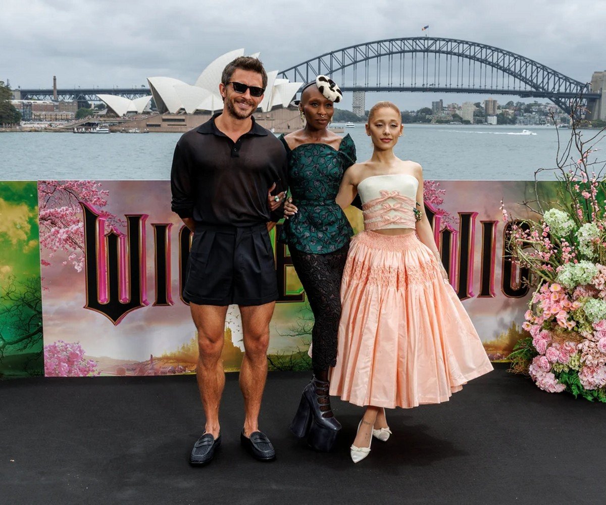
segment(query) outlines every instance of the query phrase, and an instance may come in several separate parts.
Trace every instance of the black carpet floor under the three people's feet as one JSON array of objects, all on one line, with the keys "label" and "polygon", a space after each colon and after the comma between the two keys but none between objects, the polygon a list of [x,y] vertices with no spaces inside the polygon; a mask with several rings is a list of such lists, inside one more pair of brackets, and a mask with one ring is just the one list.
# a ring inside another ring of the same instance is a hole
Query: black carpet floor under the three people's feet
[{"label": "black carpet floor under the three people's feet", "polygon": [[606,405],[549,394],[498,365],[441,405],[388,411],[393,436],[353,464],[359,407],[335,401],[333,453],[288,431],[308,373],[270,373],[261,429],[278,458],[242,450],[238,375],[227,375],[222,447],[187,463],[202,433],[194,376],[0,383],[0,504],[606,503]]}]

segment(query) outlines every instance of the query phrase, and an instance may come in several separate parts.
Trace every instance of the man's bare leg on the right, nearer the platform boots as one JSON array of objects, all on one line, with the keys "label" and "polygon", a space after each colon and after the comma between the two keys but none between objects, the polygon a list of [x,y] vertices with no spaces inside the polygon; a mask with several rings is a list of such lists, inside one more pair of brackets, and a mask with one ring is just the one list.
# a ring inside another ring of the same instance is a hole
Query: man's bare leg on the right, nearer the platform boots
[{"label": "man's bare leg on the right, nearer the platform boots", "polygon": [[261,398],[267,378],[269,322],[276,303],[241,306],[244,359],[240,369],[240,389],[244,396],[244,435],[259,430]]}]

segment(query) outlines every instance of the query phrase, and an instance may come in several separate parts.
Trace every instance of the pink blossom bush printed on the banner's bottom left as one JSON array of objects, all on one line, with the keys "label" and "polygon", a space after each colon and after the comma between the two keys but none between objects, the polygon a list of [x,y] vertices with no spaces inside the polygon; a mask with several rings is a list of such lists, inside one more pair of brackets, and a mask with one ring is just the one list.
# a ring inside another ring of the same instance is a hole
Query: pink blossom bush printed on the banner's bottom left
[{"label": "pink blossom bush printed on the banner's bottom left", "polygon": [[44,346],[44,375],[57,377],[87,377],[99,375],[97,363],[84,357],[78,342],[58,340]]}]

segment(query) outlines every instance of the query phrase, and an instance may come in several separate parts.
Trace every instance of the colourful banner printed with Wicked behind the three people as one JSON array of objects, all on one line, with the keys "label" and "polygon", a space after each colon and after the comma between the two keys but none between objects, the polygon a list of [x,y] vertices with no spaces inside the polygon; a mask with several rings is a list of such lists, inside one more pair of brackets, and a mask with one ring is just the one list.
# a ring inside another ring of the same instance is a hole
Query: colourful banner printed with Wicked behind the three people
[{"label": "colourful banner printed with Wicked behind the three people", "polygon": [[[557,182],[539,183],[553,198]],[[528,211],[534,182],[426,181],[436,243],[491,360],[524,335],[527,274],[508,261],[501,201]],[[348,209],[356,232],[361,213]],[[270,369],[304,370],[313,316],[288,249],[275,240],[281,290]],[[169,181],[0,182],[0,377],[195,372],[196,329],[181,289],[190,233],[170,211]],[[225,324],[224,364],[244,346],[238,307]]]}]

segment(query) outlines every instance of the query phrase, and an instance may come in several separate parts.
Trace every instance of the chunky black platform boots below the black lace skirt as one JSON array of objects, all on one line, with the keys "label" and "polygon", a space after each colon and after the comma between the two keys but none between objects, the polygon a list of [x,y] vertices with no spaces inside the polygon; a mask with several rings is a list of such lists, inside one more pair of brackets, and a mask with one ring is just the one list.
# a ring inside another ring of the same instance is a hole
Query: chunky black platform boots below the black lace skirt
[{"label": "chunky black platform boots below the black lace skirt", "polygon": [[316,450],[327,452],[333,448],[341,423],[330,408],[328,387],[330,382],[313,376],[305,386],[299,409],[290,424],[291,432],[299,438],[307,436],[307,443]]}]

